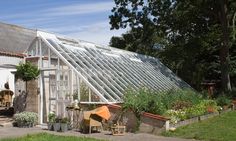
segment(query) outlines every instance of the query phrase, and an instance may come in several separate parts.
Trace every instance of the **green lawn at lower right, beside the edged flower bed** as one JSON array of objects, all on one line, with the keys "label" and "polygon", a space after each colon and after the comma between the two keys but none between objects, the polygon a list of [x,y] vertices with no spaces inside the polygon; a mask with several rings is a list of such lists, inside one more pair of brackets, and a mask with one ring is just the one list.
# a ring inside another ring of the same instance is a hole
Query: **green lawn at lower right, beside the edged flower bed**
[{"label": "green lawn at lower right, beside the edged flower bed", "polygon": [[236,112],[231,111],[199,123],[163,132],[164,136],[198,139],[205,141],[236,140]]}]

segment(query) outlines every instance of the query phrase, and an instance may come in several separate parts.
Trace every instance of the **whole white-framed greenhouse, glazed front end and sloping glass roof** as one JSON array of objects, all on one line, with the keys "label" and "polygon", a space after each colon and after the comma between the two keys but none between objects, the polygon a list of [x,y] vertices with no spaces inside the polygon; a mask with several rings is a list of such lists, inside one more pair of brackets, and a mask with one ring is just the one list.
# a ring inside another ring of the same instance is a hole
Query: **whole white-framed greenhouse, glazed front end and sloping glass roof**
[{"label": "whole white-framed greenhouse, glazed front end and sloping glass roof", "polygon": [[74,100],[121,103],[128,88],[190,87],[156,58],[42,31],[37,31],[26,59],[36,60],[41,70],[40,103],[57,113]]}]

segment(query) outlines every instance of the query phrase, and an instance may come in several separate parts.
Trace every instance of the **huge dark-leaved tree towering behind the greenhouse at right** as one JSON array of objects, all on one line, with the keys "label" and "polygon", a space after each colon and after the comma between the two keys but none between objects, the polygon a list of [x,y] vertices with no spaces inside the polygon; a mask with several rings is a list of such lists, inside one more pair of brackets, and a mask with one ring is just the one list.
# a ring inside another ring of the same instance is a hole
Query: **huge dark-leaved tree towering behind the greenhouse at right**
[{"label": "huge dark-leaved tree towering behind the greenhouse at right", "polygon": [[196,77],[199,85],[211,76],[211,79],[221,78],[223,90],[231,90],[232,23],[229,21],[233,19],[235,3],[233,0],[115,0],[110,24],[111,29],[141,28],[147,35],[150,30],[145,29],[154,27],[154,36],[161,38],[165,46],[157,54],[187,82]]}]

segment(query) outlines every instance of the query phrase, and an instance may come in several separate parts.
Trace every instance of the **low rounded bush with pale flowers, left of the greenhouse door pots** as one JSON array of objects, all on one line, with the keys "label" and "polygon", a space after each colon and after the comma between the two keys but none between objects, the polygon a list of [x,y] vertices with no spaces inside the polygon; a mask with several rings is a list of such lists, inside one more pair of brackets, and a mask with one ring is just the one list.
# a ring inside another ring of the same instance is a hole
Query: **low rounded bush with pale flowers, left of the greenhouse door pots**
[{"label": "low rounded bush with pale flowers, left of the greenhouse door pots", "polygon": [[14,115],[18,127],[33,127],[38,121],[38,115],[34,112],[21,112]]}]

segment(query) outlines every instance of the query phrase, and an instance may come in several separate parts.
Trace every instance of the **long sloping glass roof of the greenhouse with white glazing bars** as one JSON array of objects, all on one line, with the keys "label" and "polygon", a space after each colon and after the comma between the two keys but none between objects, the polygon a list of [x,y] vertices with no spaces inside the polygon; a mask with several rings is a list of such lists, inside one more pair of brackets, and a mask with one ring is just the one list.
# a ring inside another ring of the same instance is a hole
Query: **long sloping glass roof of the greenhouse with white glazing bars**
[{"label": "long sloping glass roof of the greenhouse with white glazing bars", "polygon": [[38,31],[38,36],[103,102],[122,102],[128,88],[190,88],[158,59]]}]

